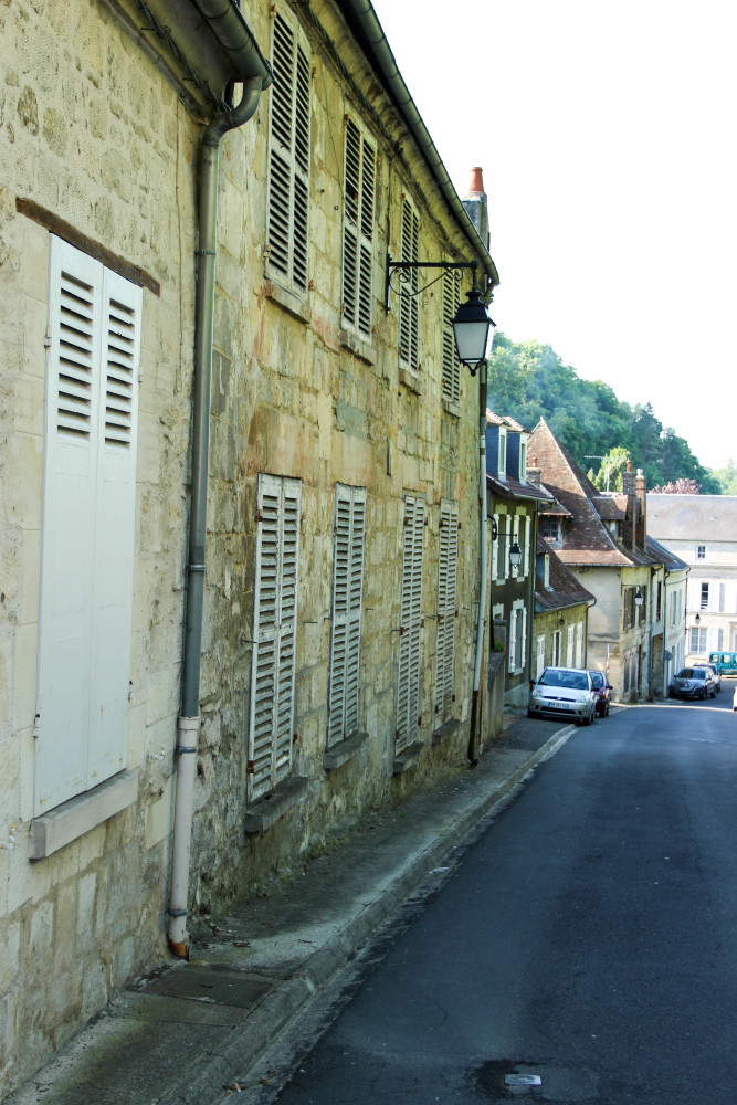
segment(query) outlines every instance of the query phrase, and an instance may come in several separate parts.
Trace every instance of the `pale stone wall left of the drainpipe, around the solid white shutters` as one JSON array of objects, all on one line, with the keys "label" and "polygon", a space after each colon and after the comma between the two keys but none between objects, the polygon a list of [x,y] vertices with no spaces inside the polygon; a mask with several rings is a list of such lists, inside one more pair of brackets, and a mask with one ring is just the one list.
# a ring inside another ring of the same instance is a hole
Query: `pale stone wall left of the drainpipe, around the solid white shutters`
[{"label": "pale stone wall left of the drainpipe, around the solid white shutters", "polygon": [[[0,1097],[161,960],[178,705],[196,127],[101,4],[0,6]],[[30,199],[140,265],[134,694],[138,798],[42,860],[33,817],[49,231]],[[181,253],[180,253],[181,250]]]}]

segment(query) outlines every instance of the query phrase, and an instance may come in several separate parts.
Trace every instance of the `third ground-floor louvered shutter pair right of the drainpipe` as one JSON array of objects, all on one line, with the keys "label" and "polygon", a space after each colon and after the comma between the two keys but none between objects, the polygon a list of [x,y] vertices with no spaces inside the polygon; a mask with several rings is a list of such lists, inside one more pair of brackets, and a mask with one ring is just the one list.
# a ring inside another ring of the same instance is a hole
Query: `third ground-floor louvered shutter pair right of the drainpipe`
[{"label": "third ground-floor louvered shutter pair right of the drainpipe", "polygon": [[397,753],[412,740],[420,713],[420,646],[422,638],[422,560],[424,499],[404,499],[404,548],[399,634]]}]

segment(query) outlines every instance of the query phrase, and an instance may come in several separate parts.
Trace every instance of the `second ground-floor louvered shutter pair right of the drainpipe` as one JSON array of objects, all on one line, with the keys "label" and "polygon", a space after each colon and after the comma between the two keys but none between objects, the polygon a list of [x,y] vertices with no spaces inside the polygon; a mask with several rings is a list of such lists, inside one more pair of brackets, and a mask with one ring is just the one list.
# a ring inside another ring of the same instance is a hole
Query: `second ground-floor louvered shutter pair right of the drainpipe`
[{"label": "second ground-floor louvered shutter pair right of the drainpipe", "polygon": [[358,728],[365,541],[366,488],[338,484],[335,498],[328,748]]}]

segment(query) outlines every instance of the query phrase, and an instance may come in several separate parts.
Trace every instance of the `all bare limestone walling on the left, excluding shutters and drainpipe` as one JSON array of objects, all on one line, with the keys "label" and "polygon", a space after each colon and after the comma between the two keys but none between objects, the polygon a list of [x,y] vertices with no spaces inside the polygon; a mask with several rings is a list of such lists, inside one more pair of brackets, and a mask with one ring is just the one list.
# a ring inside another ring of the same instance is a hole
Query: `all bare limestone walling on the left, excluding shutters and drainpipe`
[{"label": "all bare limestone walling on the left, excluding shutters and drainpipe", "polygon": [[[127,0],[123,0],[124,7]],[[130,11],[135,11],[133,3]],[[269,53],[269,4],[242,4]],[[383,257],[400,252],[402,197],[421,220],[420,256],[468,256],[438,188],[331,3],[315,2],[355,94],[314,28],[310,259],[306,302],[264,275],[266,97],[221,147],[208,513],[202,729],[191,897],[222,906],[320,846],[373,806],[428,787],[465,760],[477,615],[477,385],[460,417],[441,403],[441,285],[421,298],[421,382],[398,370],[397,303],[385,315]],[[197,150],[202,127],[104,0],[0,4],[0,1096],[33,1072],[165,950],[188,507]],[[370,345],[341,330],[344,117],[379,150]],[[380,133],[386,127],[391,140]],[[400,154],[401,146],[401,154]],[[49,230],[31,200],[140,266],[144,290],[127,768],[137,798],[43,860],[33,818],[44,334]],[[337,212],[337,213],[336,213]],[[390,230],[389,230],[390,228]],[[467,284],[466,284],[467,286]],[[246,835],[246,758],[259,473],[303,483],[293,771],[299,807]],[[367,487],[360,722],[369,740],[323,767],[335,483]],[[424,748],[393,777],[402,495],[428,502],[421,715]],[[460,504],[455,636],[459,720],[432,745],[439,518]],[[482,730],[483,732],[483,730]]]}]

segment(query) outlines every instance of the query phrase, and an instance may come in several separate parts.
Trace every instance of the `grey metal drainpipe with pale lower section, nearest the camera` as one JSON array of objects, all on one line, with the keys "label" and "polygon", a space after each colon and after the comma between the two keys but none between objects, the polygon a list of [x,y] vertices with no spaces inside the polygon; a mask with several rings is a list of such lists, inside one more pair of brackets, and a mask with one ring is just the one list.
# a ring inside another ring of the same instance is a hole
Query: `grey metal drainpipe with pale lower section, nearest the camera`
[{"label": "grey metal drainpipe with pale lower section, nearest the camera", "polygon": [[192,478],[189,519],[189,564],[181,714],[177,725],[177,797],[171,840],[169,886],[169,947],[189,959],[187,901],[192,836],[192,799],[200,730],[200,661],[204,599],[204,543],[208,509],[208,452],[210,444],[210,381],[218,245],[218,176],[220,143],[229,130],[243,126],[259,106],[264,78],[243,84],[243,98],[232,112],[217,115],[202,139],[200,162],[199,266],[194,313],[194,386],[192,393]]}]

